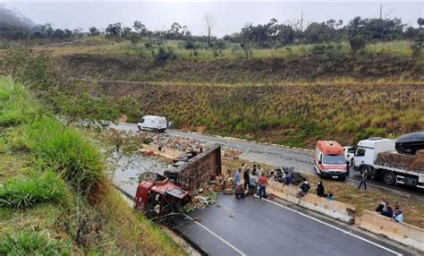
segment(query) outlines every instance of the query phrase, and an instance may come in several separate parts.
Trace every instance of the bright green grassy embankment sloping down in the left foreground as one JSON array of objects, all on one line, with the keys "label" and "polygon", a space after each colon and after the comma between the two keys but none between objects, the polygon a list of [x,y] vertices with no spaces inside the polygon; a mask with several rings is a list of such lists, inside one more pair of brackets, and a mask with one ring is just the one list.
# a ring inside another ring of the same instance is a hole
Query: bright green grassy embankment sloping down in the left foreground
[{"label": "bright green grassy embankment sloping down in the left foreground", "polygon": [[98,149],[0,77],[0,255],[182,255],[128,208]]}]

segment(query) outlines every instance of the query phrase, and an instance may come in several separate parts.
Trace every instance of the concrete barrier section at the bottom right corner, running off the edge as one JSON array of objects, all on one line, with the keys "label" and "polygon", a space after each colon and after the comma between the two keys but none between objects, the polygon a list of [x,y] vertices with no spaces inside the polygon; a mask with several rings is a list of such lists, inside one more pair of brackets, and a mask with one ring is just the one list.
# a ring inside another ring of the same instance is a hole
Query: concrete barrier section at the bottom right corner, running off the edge
[{"label": "concrete barrier section at the bottom right corner, running off the edge", "polygon": [[424,252],[424,229],[420,227],[398,223],[369,210],[362,210],[355,223],[362,229]]}]

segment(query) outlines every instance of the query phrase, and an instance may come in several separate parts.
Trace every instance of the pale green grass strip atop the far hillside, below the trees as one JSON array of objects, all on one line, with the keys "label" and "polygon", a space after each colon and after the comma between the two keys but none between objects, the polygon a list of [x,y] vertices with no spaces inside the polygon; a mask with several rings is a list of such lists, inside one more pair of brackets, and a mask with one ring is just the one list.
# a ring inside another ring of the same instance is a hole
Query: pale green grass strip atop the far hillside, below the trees
[{"label": "pale green grass strip atop the far hillside, below the trees", "polygon": [[[152,51],[157,53],[158,45],[154,44],[153,47],[145,47],[145,43],[148,42],[148,38],[143,38],[137,46],[131,45],[129,41],[114,41],[104,37],[86,37],[82,38],[80,44],[68,45],[64,47],[47,47],[52,50],[52,55],[72,55],[78,53],[89,53],[98,55],[132,55],[140,56],[143,59],[153,60],[154,56]],[[174,50],[176,58],[179,60],[199,60],[199,61],[214,61],[216,59],[225,60],[237,60],[245,57],[245,53],[240,47],[240,44],[236,43],[225,43],[225,49],[215,56],[212,49],[200,47],[196,50],[186,49],[184,47],[184,41],[178,40],[166,40],[162,45],[163,47],[171,47]],[[289,57],[304,57],[307,55],[313,55],[314,49],[318,46],[334,46],[340,45],[338,54],[350,55],[351,47],[347,41],[341,43],[328,43],[328,44],[307,44],[307,45],[291,45],[286,47],[276,48],[257,48],[252,47],[252,54],[250,57],[261,59],[261,58],[289,58]],[[396,40],[391,42],[377,42],[369,43],[363,50],[364,54],[371,55],[396,55],[410,57],[411,41],[408,40]]]}]

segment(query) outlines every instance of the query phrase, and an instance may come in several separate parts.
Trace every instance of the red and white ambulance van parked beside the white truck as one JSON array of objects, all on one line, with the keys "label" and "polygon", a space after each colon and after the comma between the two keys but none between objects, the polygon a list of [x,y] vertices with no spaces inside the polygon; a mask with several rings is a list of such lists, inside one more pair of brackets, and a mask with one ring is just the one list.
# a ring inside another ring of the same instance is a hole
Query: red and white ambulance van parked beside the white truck
[{"label": "red and white ambulance van parked beside the white truck", "polygon": [[314,167],[321,177],[346,179],[346,159],[337,141],[317,141]]}]

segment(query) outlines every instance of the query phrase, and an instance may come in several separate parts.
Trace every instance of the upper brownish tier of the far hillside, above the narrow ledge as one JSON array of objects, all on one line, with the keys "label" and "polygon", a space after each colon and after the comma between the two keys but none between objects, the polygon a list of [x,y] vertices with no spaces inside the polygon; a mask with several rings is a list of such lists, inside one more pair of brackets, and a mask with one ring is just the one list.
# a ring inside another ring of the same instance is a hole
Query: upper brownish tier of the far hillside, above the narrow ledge
[{"label": "upper brownish tier of the far hillside, above the narrow ledge", "polygon": [[335,79],[424,80],[422,59],[392,55],[310,55],[214,62],[174,60],[165,64],[126,55],[64,55],[57,63],[74,77],[123,81],[274,84]]}]

